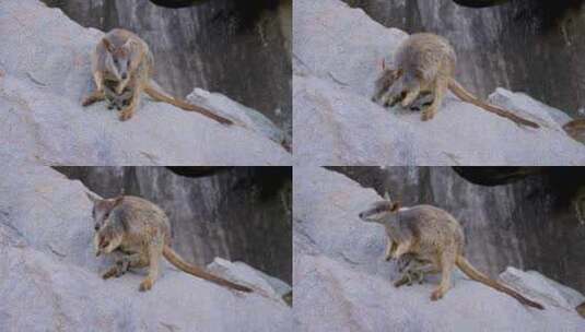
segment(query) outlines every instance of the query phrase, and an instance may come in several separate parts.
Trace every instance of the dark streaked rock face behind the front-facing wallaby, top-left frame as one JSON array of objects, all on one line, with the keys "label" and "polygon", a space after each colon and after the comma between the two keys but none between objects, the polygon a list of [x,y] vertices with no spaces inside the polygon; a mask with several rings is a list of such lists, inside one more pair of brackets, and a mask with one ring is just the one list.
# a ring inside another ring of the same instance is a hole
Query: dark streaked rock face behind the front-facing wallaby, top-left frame
[{"label": "dark streaked rock face behind the front-facing wallaby, top-left frame", "polygon": [[151,47],[154,78],[168,93],[220,92],[292,132],[291,0],[246,1],[247,7],[200,1],[180,9],[141,0],[45,2],[83,26],[136,32]]}]

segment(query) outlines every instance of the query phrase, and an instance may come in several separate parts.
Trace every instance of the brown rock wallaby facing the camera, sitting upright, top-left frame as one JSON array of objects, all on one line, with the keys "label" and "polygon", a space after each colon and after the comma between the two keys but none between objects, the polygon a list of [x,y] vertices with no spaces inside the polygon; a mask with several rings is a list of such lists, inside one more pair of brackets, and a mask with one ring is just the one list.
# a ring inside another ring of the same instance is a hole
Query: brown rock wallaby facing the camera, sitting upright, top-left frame
[{"label": "brown rock wallaby facing the camera, sitting upright, top-left frame", "polygon": [[144,92],[154,100],[197,111],[220,123],[233,124],[232,120],[210,110],[169,96],[152,81],[153,72],[154,58],[147,43],[129,31],[114,28],[97,43],[92,54],[96,88],[83,99],[82,105],[108,99],[108,108],[121,110],[120,120],[124,121],[134,115]]}]

